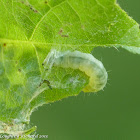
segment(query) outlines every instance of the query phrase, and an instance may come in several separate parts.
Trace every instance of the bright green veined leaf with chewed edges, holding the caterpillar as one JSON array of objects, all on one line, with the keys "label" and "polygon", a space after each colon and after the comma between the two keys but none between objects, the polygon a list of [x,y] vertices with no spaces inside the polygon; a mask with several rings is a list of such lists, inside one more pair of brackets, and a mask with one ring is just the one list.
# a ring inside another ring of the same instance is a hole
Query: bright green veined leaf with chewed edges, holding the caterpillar
[{"label": "bright green veined leaf with chewed edges, holding the caterpillar", "polygon": [[76,87],[41,84],[51,49],[90,53],[94,47],[140,54],[139,25],[115,0],[0,0],[0,132],[24,132],[36,107],[77,95],[87,85],[83,72],[64,68],[47,78],[62,85],[77,77]]}]

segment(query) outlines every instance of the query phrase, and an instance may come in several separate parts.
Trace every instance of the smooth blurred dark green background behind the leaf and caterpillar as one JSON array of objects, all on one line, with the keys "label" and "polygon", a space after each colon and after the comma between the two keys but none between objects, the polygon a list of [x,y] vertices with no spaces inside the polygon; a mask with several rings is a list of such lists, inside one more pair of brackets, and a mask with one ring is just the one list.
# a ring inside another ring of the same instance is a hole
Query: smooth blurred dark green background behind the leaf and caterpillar
[{"label": "smooth blurred dark green background behind the leaf and caterpillar", "polygon": [[[140,0],[118,3],[140,23]],[[93,55],[108,71],[104,91],[44,105],[31,124],[48,140],[140,140],[140,55],[115,48],[96,48]]]}]

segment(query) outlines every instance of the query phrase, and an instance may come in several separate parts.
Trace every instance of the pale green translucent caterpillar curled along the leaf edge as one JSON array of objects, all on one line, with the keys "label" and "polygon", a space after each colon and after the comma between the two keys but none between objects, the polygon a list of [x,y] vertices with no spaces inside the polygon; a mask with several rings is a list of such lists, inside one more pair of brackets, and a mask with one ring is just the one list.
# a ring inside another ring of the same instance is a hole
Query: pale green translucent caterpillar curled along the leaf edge
[{"label": "pale green translucent caterpillar curled along the leaf edge", "polygon": [[97,92],[102,90],[106,83],[108,74],[99,60],[93,55],[80,51],[60,52],[51,50],[43,62],[45,69],[52,66],[79,69],[89,77],[88,85],[83,89],[84,92]]}]

